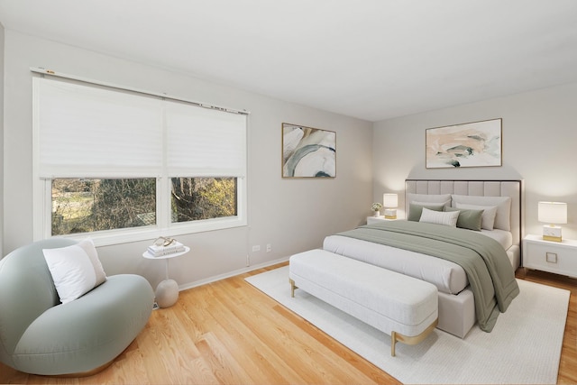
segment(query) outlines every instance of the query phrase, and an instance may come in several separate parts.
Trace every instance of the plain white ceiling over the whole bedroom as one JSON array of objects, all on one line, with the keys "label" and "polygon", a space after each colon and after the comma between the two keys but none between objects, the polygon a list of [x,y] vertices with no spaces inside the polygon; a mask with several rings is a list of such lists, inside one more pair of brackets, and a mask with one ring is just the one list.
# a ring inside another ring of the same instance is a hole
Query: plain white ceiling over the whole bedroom
[{"label": "plain white ceiling over the whole bedroom", "polygon": [[577,81],[575,0],[0,0],[0,23],[368,121]]}]

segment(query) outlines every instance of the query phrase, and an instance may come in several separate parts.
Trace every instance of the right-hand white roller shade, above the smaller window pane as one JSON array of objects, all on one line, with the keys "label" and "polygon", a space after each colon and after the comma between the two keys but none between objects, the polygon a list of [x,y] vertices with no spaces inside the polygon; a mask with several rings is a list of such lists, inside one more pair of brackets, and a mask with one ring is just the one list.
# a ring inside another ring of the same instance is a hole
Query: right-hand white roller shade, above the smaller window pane
[{"label": "right-hand white roller shade, above the smaller window pane", "polygon": [[244,177],[246,115],[166,102],[169,176]]}]

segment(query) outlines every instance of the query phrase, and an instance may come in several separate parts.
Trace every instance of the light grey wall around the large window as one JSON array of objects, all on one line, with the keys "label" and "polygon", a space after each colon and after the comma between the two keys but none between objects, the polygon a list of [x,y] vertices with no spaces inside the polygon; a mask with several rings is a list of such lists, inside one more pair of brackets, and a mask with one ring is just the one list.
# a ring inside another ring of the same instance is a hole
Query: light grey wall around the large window
[{"label": "light grey wall around the large window", "polygon": [[[183,49],[193,49],[183,47]],[[170,261],[181,287],[319,247],[326,234],[362,223],[372,197],[372,124],[224,87],[173,71],[105,56],[53,41],[5,32],[4,254],[32,242],[32,74],[53,69],[126,87],[165,92],[214,105],[246,109],[249,117],[249,226],[188,234],[192,252]],[[336,132],[335,179],[280,177],[281,124]],[[129,143],[127,143],[129,145]],[[99,248],[108,274],[135,272],[155,286],[162,261],[142,258],[149,242]],[[270,243],[272,252],[265,251]],[[251,252],[252,245],[261,252]]]}]

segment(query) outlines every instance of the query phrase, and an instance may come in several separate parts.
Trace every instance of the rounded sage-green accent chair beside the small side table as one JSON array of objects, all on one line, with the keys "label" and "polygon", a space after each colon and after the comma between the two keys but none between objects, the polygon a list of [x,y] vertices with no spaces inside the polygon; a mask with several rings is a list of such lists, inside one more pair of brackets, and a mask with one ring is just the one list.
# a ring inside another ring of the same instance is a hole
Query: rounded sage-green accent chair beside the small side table
[{"label": "rounded sage-green accent chair beside the small side table", "polygon": [[89,375],[104,369],[148,323],[154,293],[140,275],[118,274],[67,304],[42,249],[75,244],[39,241],[0,260],[0,362],[32,374]]}]

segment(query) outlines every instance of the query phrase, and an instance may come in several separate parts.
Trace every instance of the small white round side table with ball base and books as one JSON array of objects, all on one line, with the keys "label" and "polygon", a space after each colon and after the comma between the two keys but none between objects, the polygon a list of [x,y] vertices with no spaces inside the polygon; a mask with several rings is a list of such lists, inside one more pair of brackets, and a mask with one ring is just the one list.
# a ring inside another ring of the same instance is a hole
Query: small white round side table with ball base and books
[{"label": "small white round side table with ball base and books", "polygon": [[166,279],[159,283],[154,292],[156,303],[159,307],[171,307],[179,299],[179,284],[176,280],[169,279],[169,259],[186,254],[189,251],[190,248],[188,246],[179,243],[177,240],[160,236],[142,254],[142,257],[149,260],[165,261]]}]

